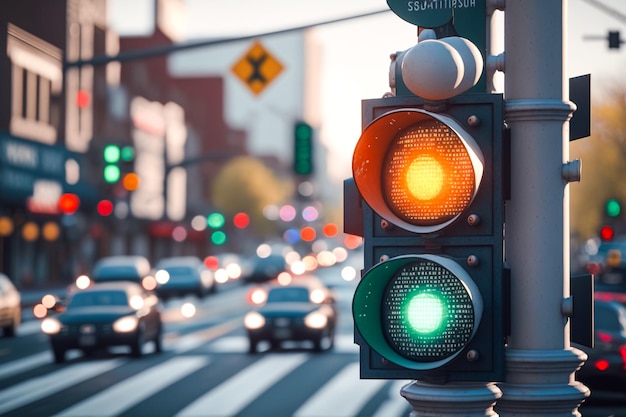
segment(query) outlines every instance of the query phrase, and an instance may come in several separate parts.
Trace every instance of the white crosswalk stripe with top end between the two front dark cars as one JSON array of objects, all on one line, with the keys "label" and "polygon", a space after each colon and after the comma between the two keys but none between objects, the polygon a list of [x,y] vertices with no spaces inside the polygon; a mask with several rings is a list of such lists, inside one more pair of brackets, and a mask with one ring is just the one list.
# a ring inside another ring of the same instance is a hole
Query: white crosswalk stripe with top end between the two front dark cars
[{"label": "white crosswalk stripe with top end between the two front dark cars", "polygon": [[153,366],[57,414],[55,417],[118,415],[209,362],[208,357],[185,356]]}]

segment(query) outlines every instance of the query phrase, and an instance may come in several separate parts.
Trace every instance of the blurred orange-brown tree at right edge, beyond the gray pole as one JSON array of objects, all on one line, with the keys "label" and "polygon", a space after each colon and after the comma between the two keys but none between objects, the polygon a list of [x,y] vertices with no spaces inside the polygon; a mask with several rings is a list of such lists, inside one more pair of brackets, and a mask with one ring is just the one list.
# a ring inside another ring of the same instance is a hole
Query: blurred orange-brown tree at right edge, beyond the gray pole
[{"label": "blurred orange-brown tree at right edge, beyond the gray pole", "polygon": [[626,202],[626,86],[594,103],[591,138],[571,143],[570,159],[576,158],[583,171],[581,182],[570,186],[571,231],[586,240],[598,236],[608,199]]}]

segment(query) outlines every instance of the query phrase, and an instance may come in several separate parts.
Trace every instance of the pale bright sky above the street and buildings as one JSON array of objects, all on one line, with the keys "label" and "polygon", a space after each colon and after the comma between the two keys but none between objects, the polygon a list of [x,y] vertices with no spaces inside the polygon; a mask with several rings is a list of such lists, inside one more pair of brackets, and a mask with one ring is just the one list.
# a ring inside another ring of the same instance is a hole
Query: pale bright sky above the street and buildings
[{"label": "pale bright sky above the street and buildings", "polygon": [[[151,28],[153,0],[110,0],[113,27],[138,34]],[[616,13],[592,3],[601,2]],[[626,1],[569,0],[567,75],[591,74],[592,97],[626,83],[626,45],[609,50],[609,30],[626,37]],[[265,33],[388,9],[385,0],[185,0],[186,39]],[[416,28],[393,12],[316,29],[322,51],[321,141],[330,151],[331,175],[351,175],[351,156],[361,132],[361,100],[389,91],[389,55],[416,42]],[[593,111],[593,110],[592,110]]]}]

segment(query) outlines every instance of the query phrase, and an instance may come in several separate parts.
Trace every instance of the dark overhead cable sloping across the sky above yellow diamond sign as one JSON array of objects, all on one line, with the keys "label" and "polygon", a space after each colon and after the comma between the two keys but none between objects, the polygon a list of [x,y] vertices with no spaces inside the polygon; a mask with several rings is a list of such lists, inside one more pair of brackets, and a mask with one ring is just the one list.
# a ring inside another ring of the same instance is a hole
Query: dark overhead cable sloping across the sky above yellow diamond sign
[{"label": "dark overhead cable sloping across the sky above yellow diamond sign", "polygon": [[293,28],[288,28],[288,29],[281,29],[281,30],[276,30],[276,31],[272,31],[272,32],[257,33],[257,34],[254,34],[254,35],[238,36],[238,37],[235,37],[235,38],[205,39],[205,40],[200,40],[200,41],[183,42],[183,43],[178,43],[178,44],[173,44],[173,45],[155,46],[155,47],[139,49],[139,50],[135,50],[135,51],[124,51],[124,52],[120,52],[117,55],[100,55],[100,56],[93,57],[91,59],[65,62],[64,63],[64,68],[68,69],[68,68],[82,67],[84,65],[98,66],[98,65],[106,65],[106,64],[108,64],[110,62],[126,62],[126,61],[134,61],[134,60],[137,60],[137,59],[154,58],[154,57],[157,57],[157,56],[167,55],[167,54],[170,54],[172,52],[183,51],[183,50],[186,50],[186,49],[193,49],[193,48],[200,48],[200,47],[207,47],[207,46],[222,45],[222,44],[225,44],[225,43],[246,41],[246,40],[250,40],[250,39],[260,38],[260,37],[263,37],[263,36],[281,35],[283,33],[307,30],[307,29],[314,28],[316,26],[330,25],[330,24],[333,24],[333,23],[341,23],[341,22],[345,22],[347,20],[360,19],[360,18],[363,18],[363,17],[374,16],[374,15],[377,15],[377,14],[387,13],[387,12],[390,12],[390,11],[391,11],[390,9],[378,10],[378,11],[375,11],[375,12],[369,12],[369,13],[364,13],[364,14],[359,14],[359,15],[354,15],[354,16],[341,17],[341,18],[338,18],[338,19],[312,23],[312,24],[308,24],[308,25],[304,25],[304,26],[298,26],[298,27],[293,27]]}]

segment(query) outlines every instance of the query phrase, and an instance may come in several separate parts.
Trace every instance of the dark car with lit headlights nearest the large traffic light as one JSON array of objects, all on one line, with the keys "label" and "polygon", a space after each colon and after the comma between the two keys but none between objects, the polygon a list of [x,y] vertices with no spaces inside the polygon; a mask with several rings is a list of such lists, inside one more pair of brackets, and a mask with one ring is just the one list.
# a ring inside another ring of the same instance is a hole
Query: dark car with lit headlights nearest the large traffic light
[{"label": "dark car with lit headlights nearest the large traffic light", "polygon": [[261,341],[272,349],[284,341],[311,341],[317,352],[334,345],[337,309],[332,291],[318,280],[304,277],[288,285],[274,284],[251,290],[257,307],[244,318],[249,352],[256,353]]}]

